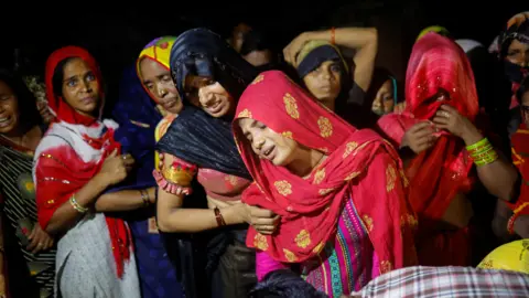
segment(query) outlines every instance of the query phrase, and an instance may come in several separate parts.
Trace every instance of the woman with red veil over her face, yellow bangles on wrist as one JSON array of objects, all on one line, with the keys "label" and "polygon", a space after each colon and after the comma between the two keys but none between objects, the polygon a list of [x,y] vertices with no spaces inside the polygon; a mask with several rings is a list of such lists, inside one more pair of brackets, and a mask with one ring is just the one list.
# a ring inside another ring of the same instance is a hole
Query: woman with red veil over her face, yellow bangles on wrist
[{"label": "woman with red veil over her face, yellow bangles on wrist", "polygon": [[494,196],[509,200],[518,174],[474,125],[474,75],[453,41],[436,33],[420,39],[406,83],[404,113],[382,117],[379,127],[397,147],[411,149],[403,158],[409,200],[420,222],[419,262],[468,265],[469,191],[479,181]]}]

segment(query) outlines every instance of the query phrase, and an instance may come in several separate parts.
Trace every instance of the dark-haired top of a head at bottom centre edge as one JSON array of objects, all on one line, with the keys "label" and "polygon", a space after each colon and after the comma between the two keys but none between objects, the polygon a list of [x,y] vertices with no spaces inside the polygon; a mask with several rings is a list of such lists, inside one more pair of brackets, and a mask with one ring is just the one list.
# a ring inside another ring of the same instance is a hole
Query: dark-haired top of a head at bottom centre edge
[{"label": "dark-haired top of a head at bottom centre edge", "polygon": [[248,294],[249,298],[328,298],[298,274],[289,269],[274,270]]}]

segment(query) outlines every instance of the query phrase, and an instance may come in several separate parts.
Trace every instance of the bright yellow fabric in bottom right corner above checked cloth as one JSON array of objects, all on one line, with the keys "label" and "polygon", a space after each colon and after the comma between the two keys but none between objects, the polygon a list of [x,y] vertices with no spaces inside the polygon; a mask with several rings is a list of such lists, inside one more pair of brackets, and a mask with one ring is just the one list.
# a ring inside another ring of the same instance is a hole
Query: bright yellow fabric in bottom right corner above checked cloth
[{"label": "bright yellow fabric in bottom right corner above checked cloth", "polygon": [[529,274],[529,238],[499,246],[488,254],[477,267]]}]

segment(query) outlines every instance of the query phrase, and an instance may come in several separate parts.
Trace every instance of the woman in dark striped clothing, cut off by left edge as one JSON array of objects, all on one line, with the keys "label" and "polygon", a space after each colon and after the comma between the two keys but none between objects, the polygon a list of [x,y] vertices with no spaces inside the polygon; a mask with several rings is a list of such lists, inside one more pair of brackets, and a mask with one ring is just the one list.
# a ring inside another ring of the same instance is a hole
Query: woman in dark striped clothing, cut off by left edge
[{"label": "woman in dark striped clothing, cut off by left edge", "polygon": [[3,244],[12,297],[51,297],[54,240],[41,228],[31,177],[33,155],[45,131],[35,98],[21,77],[0,71],[0,182]]}]

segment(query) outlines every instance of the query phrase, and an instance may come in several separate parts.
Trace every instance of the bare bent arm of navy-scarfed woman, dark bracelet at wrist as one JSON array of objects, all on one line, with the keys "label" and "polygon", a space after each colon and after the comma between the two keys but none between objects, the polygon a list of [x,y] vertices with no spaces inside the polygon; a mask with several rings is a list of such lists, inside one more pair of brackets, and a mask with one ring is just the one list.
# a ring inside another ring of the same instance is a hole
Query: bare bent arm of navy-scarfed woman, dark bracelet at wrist
[{"label": "bare bent arm of navy-scarfed woman, dark bracelet at wrist", "polygon": [[[171,167],[174,157],[164,153],[163,167]],[[162,232],[201,232],[218,226],[215,212],[210,209],[182,209],[184,195],[158,190],[158,225]],[[227,225],[244,223],[239,216],[242,204],[220,209],[220,214]]]}]

